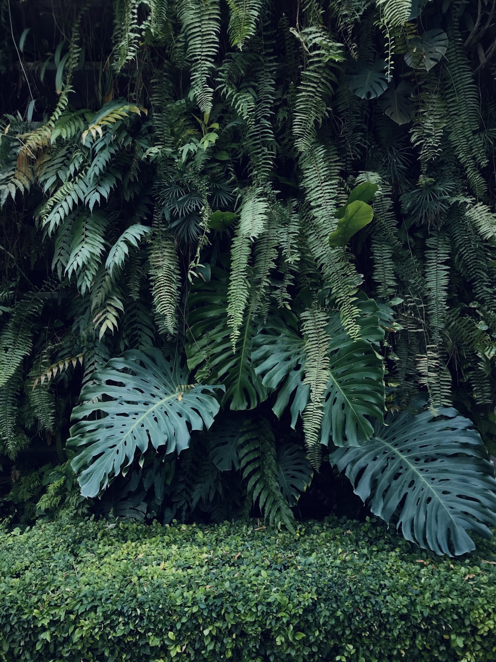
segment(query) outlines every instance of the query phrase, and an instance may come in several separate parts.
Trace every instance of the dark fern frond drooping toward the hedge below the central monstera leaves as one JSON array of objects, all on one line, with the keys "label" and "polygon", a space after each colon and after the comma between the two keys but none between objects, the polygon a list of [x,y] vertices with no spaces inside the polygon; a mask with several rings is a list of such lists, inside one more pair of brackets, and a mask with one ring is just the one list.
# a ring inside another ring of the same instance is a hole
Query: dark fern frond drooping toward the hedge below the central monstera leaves
[{"label": "dark fern frond drooping toward the hedge below the central monstera leaves", "polygon": [[247,493],[270,526],[283,524],[294,531],[294,515],[278,483],[274,433],[267,420],[247,422],[239,438],[239,465]]}]

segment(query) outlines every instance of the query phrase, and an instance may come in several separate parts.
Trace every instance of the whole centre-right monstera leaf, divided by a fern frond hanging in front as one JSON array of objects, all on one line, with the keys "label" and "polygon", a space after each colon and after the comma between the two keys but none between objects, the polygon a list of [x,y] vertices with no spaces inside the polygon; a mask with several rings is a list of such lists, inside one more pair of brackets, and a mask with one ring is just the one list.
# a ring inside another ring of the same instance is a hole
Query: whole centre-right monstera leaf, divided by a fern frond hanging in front
[{"label": "whole centre-right monstera leaf, divided by a fern frond hanging in front", "polygon": [[[321,443],[332,437],[336,446],[358,446],[374,428],[369,416],[382,420],[384,412],[384,366],[372,342],[384,340],[377,307],[373,301],[360,302],[364,314],[358,323],[360,340],[351,340],[341,325],[339,314],[327,326],[329,345],[329,382],[324,395]],[[372,312],[373,314],[370,314]],[[296,318],[295,318],[296,320]],[[310,399],[310,387],[304,384],[305,342],[294,326],[270,321],[264,332],[253,340],[255,373],[269,391],[278,391],[272,411],[280,417],[291,402],[291,425],[294,428]]]}]

